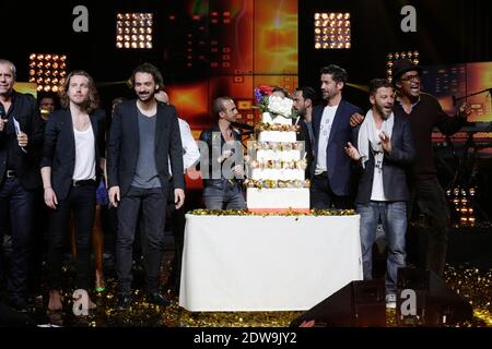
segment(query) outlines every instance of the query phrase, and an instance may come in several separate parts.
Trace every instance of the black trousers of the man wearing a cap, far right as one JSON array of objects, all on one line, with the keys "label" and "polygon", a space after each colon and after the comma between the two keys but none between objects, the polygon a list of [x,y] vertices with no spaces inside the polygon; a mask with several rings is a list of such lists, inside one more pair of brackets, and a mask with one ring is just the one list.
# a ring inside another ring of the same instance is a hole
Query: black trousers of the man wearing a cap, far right
[{"label": "black trousers of the man wearing a cap, far right", "polygon": [[414,181],[411,185],[412,207],[410,215],[423,214],[426,218],[427,248],[425,268],[443,276],[446,263],[447,234],[450,226],[450,215],[446,196],[437,178]]}]

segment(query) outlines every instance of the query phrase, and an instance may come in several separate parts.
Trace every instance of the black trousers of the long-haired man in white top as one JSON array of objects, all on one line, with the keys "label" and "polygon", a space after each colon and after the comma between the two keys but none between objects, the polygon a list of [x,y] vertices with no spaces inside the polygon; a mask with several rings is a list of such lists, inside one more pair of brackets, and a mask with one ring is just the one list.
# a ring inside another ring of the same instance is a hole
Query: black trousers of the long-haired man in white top
[{"label": "black trousers of the long-haired man in white top", "polygon": [[91,275],[91,237],[96,206],[96,184],[70,188],[68,196],[58,201],[49,219],[48,285],[51,290],[61,286],[61,261],[63,245],[70,234],[70,216],[75,225],[75,288],[89,290]]}]

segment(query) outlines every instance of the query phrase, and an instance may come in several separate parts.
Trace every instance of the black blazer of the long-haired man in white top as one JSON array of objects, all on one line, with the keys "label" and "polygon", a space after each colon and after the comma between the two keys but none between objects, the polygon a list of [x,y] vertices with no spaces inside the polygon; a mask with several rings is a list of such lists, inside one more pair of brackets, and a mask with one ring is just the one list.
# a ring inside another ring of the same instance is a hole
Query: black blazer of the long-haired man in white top
[{"label": "black blazer of the long-haired man in white top", "polygon": [[[90,116],[94,132],[95,169],[97,180],[102,176],[101,158],[105,158],[105,136],[103,110],[97,109]],[[70,110],[56,110],[46,123],[45,145],[40,167],[51,168],[51,186],[58,200],[65,200],[69,193],[75,169],[75,136]]]}]

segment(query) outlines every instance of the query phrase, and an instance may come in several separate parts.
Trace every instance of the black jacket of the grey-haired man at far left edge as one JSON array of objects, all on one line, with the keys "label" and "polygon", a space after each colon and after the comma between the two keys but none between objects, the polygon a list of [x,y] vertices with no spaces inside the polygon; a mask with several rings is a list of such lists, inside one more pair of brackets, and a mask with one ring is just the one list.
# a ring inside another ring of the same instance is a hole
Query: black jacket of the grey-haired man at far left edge
[{"label": "black jacket of the grey-haired man at far left edge", "polygon": [[[43,121],[39,116],[36,99],[28,94],[13,92],[12,107],[7,117],[13,116],[19,122],[21,131],[27,134],[28,142],[26,153],[19,147],[17,154],[21,158],[20,166],[16,169],[16,176],[22,185],[27,190],[34,190],[40,186],[39,158],[43,147]],[[5,124],[12,128],[12,124]],[[12,129],[13,130],[13,129]],[[5,179],[7,156],[9,135],[7,128],[0,132],[0,184]],[[14,132],[14,131],[12,131]]]}]

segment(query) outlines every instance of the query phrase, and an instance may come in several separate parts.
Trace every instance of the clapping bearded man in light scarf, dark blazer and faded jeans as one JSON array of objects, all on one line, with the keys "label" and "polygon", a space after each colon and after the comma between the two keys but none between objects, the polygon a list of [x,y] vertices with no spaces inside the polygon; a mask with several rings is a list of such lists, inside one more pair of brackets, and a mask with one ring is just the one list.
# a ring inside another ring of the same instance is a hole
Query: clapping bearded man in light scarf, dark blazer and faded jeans
[{"label": "clapping bearded man in light scarf, dark blazer and faded jeans", "polygon": [[406,171],[415,149],[410,120],[393,113],[394,91],[387,80],[371,81],[370,101],[371,110],[354,130],[355,146],[349,142],[345,152],[362,169],[355,203],[361,215],[364,279],[373,278],[373,244],[380,219],[389,248],[386,305],[396,308],[397,272],[406,265],[407,202],[410,198]]}]

